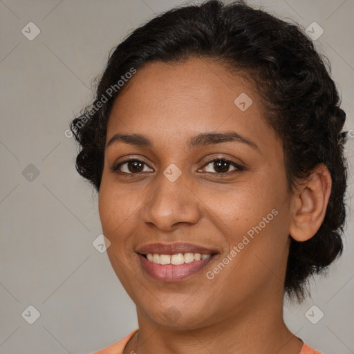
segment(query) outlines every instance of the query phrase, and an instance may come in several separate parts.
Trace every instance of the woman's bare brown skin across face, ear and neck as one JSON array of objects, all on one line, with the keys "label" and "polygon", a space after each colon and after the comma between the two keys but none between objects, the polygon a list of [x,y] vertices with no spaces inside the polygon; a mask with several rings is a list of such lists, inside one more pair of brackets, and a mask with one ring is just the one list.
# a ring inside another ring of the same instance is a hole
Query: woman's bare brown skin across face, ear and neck
[{"label": "woman's bare brown skin across face, ear and neck", "polygon": [[[252,99],[241,111],[234,100]],[[115,100],[106,142],[116,133],[140,133],[140,147],[106,146],[99,212],[111,265],[136,304],[139,331],[124,354],[299,354],[303,343],[283,322],[283,283],[290,236],[310,239],[324,219],[328,169],[319,166],[288,192],[281,140],[268,127],[257,89],[221,64],[189,59],[148,63]],[[252,140],[189,148],[199,133],[235,131]],[[123,158],[145,162],[137,172]],[[213,167],[227,158],[244,167]],[[175,181],[163,171],[175,164]],[[216,176],[216,172],[220,172]],[[236,171],[236,172],[235,172]],[[124,174],[126,172],[126,174]],[[221,176],[223,174],[223,176]],[[272,209],[278,214],[214,279],[213,270]],[[149,277],[135,250],[147,243],[187,241],[218,251],[207,267],[177,282]],[[178,319],[166,314],[174,306]]]}]

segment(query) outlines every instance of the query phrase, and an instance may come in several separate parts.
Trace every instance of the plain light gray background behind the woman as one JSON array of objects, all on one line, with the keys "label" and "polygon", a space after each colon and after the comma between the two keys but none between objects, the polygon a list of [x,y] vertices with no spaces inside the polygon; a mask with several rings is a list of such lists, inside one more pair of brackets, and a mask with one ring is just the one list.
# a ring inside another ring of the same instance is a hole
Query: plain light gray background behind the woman
[{"label": "plain light gray background behind the woman", "polygon": [[[137,328],[133,302],[106,253],[93,247],[102,232],[97,195],[75,171],[75,143],[64,132],[73,114],[91,102],[91,83],[109,50],[133,28],[182,3],[0,1],[1,354],[92,353]],[[304,28],[316,21],[324,29],[315,44],[332,64],[345,128],[354,129],[354,1],[248,3]],[[41,31],[32,41],[21,32],[30,21]],[[354,131],[346,149],[350,175],[353,140]],[[349,213],[352,186],[351,179]],[[342,259],[328,277],[315,278],[311,299],[284,308],[290,329],[325,354],[354,353],[352,234],[349,214]],[[21,316],[30,305],[40,313],[34,324]],[[317,324],[305,316],[313,305],[324,313]]]}]

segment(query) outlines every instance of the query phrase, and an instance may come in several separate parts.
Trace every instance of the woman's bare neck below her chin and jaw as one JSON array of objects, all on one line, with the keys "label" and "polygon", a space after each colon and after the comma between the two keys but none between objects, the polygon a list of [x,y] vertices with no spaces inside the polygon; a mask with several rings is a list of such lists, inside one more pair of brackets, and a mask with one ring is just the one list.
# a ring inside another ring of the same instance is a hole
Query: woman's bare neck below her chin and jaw
[{"label": "woman's bare neck below her chin and jaw", "polygon": [[[279,296],[280,301],[274,301]],[[282,293],[273,292],[261,302],[248,299],[241,310],[230,311],[221,321],[197,329],[187,324],[178,328],[159,326],[137,308],[139,331],[124,354],[299,354],[303,343],[283,322],[282,297]]]}]

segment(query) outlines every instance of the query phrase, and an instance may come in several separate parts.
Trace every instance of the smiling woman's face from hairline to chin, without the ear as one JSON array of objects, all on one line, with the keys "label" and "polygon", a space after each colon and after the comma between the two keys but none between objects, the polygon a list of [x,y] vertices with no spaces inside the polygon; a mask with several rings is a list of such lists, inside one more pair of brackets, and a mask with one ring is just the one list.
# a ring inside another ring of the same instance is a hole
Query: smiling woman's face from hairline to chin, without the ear
[{"label": "smiling woman's face from hairline to chin, without the ear", "polygon": [[149,63],[125,85],[99,212],[138,315],[198,328],[280,306],[291,198],[257,91],[207,59]]}]

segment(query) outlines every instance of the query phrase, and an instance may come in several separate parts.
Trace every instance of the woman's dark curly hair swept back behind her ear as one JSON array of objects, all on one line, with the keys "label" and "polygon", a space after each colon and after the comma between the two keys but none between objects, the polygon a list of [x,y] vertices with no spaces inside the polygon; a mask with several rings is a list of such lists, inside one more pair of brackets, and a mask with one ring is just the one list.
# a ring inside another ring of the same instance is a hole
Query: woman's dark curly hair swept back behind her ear
[{"label": "woman's dark curly hair swept back behind her ear", "polygon": [[209,58],[244,75],[254,82],[265,106],[265,120],[283,142],[289,191],[319,164],[328,167],[332,178],[321,227],[308,241],[290,243],[284,290],[290,299],[304,299],[308,279],[324,272],[343,250],[346,114],[339,108],[328,59],[317,53],[298,24],[243,1],[225,5],[211,0],[174,8],[133,30],[113,49],[93,104],[71,122],[81,147],[77,171],[99,192],[107,120],[122,91],[119,82],[127,81],[128,73],[143,64]]}]

